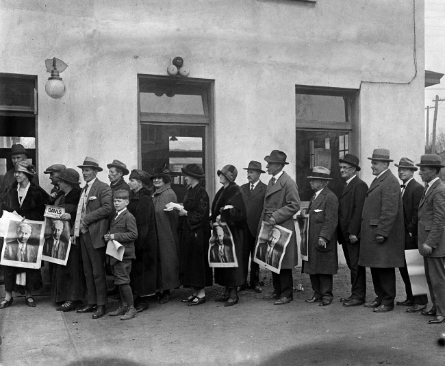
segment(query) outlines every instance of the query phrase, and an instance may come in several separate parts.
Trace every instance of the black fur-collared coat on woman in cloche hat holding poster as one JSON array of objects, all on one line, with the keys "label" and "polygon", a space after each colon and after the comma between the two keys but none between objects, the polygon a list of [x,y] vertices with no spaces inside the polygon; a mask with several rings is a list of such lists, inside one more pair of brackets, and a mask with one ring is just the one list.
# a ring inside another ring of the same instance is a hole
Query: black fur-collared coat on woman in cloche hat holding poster
[{"label": "black fur-collared coat on woman in cloche hat holding poster", "polygon": [[[233,208],[223,210],[220,208],[231,205]],[[212,222],[216,223],[216,217],[221,215],[221,221],[227,223],[235,243],[235,253],[238,267],[215,268],[215,282],[221,286],[241,286],[244,283],[244,265],[242,260],[243,245],[246,241],[247,231],[246,206],[242,199],[240,186],[230,183],[226,188],[221,188],[215,195],[212,204]]]}]

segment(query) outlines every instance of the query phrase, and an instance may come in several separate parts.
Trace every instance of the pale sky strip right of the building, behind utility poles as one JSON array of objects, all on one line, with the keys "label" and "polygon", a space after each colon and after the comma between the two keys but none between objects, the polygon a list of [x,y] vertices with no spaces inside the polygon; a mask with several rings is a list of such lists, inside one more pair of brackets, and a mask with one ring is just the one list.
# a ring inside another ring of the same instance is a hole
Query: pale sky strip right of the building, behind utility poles
[{"label": "pale sky strip right of the building, behind utility poles", "polygon": [[[445,74],[445,0],[425,1],[425,69]],[[425,108],[434,106],[433,99],[445,99],[445,76],[441,83],[425,88]],[[429,110],[430,133],[433,129],[434,108]],[[427,110],[425,110],[425,119]],[[437,133],[445,133],[445,101],[439,102]]]}]

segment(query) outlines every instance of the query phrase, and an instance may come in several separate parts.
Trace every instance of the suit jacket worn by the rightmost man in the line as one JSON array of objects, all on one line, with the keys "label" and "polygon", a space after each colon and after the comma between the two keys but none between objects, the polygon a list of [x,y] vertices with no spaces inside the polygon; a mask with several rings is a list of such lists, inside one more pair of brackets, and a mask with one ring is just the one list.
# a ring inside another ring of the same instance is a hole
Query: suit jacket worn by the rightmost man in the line
[{"label": "suit jacket worn by the rightmost man in the line", "polygon": [[[436,180],[428,192],[420,199],[418,211],[418,246],[422,256],[445,257],[445,184]],[[422,245],[433,248],[431,254],[425,254]]]}]

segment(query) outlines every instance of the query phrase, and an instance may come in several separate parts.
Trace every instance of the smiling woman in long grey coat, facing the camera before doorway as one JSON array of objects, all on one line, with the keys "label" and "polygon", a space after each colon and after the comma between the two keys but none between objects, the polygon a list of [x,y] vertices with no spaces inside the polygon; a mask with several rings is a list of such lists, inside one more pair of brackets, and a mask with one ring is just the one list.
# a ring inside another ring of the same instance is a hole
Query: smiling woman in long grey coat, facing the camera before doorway
[{"label": "smiling woman in long grey coat, facing the camera before doorway", "polygon": [[175,192],[170,186],[170,171],[164,168],[153,169],[150,189],[155,206],[157,231],[157,253],[160,269],[157,270],[157,290],[162,291],[160,304],[170,301],[170,289],[181,285],[179,282],[179,244],[177,234],[177,210],[164,211],[166,204],[177,203]]}]

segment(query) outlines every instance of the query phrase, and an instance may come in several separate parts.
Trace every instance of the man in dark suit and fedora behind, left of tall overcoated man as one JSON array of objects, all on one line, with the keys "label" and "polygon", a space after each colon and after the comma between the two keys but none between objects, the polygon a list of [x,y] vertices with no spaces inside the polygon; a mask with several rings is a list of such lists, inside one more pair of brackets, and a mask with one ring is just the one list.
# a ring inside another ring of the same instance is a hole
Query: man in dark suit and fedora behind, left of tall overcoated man
[{"label": "man in dark suit and fedora behind, left of tall overcoated man", "polygon": [[244,286],[238,291],[241,291],[246,286],[247,272],[249,271],[249,258],[251,258],[251,280],[250,286],[253,291],[261,293],[263,289],[259,286],[259,265],[253,261],[253,254],[255,253],[255,243],[257,241],[257,230],[259,219],[261,219],[264,195],[266,195],[267,185],[259,180],[261,173],[266,173],[262,170],[261,162],[252,160],[249,166],[243,168],[247,171],[247,180],[249,183],[242,184],[242,198],[246,205],[247,226],[249,230],[246,234],[246,243],[244,244],[244,253],[242,260],[244,262]]}]

